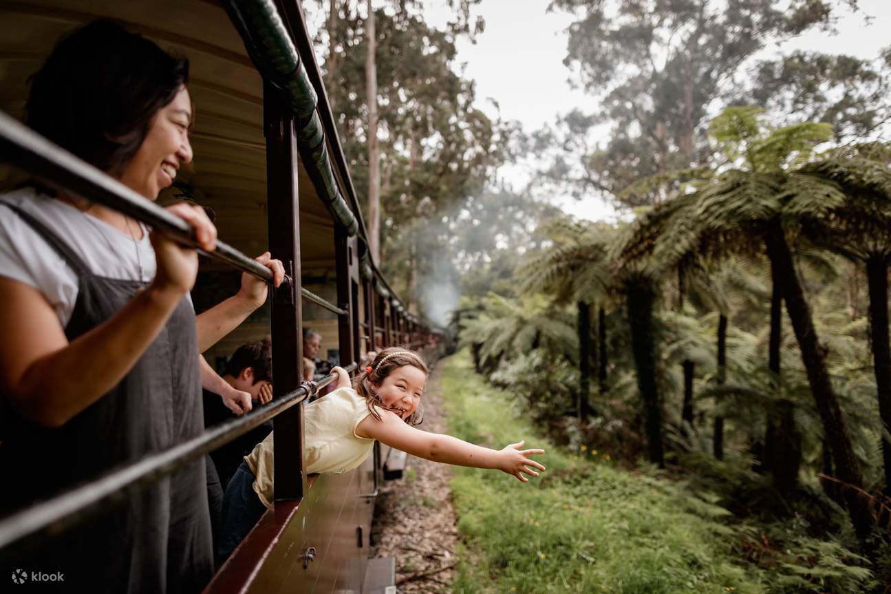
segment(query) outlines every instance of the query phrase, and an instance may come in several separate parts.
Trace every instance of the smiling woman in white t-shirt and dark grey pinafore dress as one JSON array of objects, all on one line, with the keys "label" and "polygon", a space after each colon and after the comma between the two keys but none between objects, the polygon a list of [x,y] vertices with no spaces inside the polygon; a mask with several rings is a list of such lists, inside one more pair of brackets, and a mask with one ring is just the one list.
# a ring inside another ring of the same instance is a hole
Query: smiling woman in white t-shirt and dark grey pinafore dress
[{"label": "smiling woman in white t-shirt and dark grey pinafore dress", "polygon": [[[192,161],[188,62],[118,24],[77,29],[31,80],[26,123],[155,200]],[[0,195],[2,513],[203,432],[200,351],[266,300],[236,296],[195,317],[198,258],[134,219],[63,188]],[[216,229],[169,208],[213,250]],[[283,276],[269,254],[257,259]],[[227,400],[234,411],[250,398]],[[28,559],[82,591],[198,591],[213,572],[203,458]]]}]

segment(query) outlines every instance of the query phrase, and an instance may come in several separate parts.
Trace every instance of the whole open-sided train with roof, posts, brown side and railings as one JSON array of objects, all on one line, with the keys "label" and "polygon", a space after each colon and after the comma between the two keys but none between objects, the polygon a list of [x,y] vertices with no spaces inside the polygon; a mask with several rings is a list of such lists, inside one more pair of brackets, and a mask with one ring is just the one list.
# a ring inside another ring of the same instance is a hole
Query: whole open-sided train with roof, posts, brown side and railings
[{"label": "whole open-sided train with roof, posts, brown side and railings", "polygon": [[274,505],[217,568],[205,591],[395,592],[388,574],[392,563],[370,564],[368,557],[386,458],[387,474],[397,475],[400,457],[376,450],[351,472],[307,476],[303,407],[333,376],[303,381],[302,334],[315,330],[322,337],[318,356],[351,372],[365,352],[391,345],[419,350],[432,361],[443,336],[405,308],[369,255],[301,5],[298,0],[0,2],[4,189],[39,177],[195,245],[189,227],[161,206],[20,123],[29,76],[61,37],[97,19],[119,21],[191,62],[194,159],[159,202],[197,203],[217,226],[219,249],[201,259],[192,291],[199,313],[237,291],[242,273],[271,279],[268,269],[252,260],[257,254],[268,249],[284,263],[286,282],[270,291],[266,305],[204,353],[218,367],[241,343],[271,335],[274,400],[102,480],[72,485],[34,507],[0,510],[0,558],[14,559],[65,527],[88,525],[96,510],[120,504],[141,486],[272,418]]}]

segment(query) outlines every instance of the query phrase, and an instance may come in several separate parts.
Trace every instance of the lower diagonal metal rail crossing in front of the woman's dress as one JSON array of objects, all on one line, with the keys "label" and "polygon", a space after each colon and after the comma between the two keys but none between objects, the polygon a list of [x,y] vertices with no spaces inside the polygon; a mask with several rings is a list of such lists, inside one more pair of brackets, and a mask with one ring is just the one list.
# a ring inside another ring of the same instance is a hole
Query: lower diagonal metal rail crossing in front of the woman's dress
[{"label": "lower diagonal metal rail crossing in front of the woman's dress", "polygon": [[[356,364],[345,368],[347,373],[352,372],[356,369]],[[315,382],[312,392],[307,386],[301,385],[297,390],[273,400],[268,407],[233,419],[189,441],[151,454],[130,466],[113,470],[90,483],[65,491],[52,499],[0,520],[0,549],[5,549],[21,540],[37,538],[41,534],[55,535],[67,530],[86,517],[92,516],[103,504],[126,499],[128,495],[162,476],[176,472],[192,460],[248,433],[283,410],[307,400],[311,393],[331,384],[335,379],[337,374],[326,375]]]}]

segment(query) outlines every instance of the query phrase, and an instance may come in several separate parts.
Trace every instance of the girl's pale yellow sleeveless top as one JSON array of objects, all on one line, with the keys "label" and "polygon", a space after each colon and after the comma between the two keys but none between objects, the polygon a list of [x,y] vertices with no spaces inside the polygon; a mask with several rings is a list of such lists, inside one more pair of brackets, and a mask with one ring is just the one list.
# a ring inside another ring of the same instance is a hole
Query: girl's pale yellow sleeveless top
[{"label": "girl's pale yellow sleeveless top", "polygon": [[[356,425],[371,414],[365,399],[352,388],[339,388],[307,404],[304,411],[307,474],[345,473],[372,454],[374,440],[356,435]],[[273,433],[257,443],[246,456],[250,471],[257,477],[254,491],[269,507],[273,502]]]}]

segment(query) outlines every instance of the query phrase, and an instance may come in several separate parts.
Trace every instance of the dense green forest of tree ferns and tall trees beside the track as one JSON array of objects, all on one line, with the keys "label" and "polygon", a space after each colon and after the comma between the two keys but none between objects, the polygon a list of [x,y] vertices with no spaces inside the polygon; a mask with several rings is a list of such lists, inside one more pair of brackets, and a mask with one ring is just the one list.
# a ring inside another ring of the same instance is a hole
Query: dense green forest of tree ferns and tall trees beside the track
[{"label": "dense green forest of tree ferns and tall trees beside the track", "polygon": [[[553,0],[596,109],[524,131],[476,106],[455,42],[483,23],[453,4],[446,29],[374,4],[388,276],[437,321],[425,287],[460,286],[479,373],[554,441],[714,496],[740,561],[784,559],[770,591],[888,591],[891,47],[764,53],[855,2]],[[316,6],[360,195],[368,5]],[[531,185],[495,184],[530,156]]]}]

